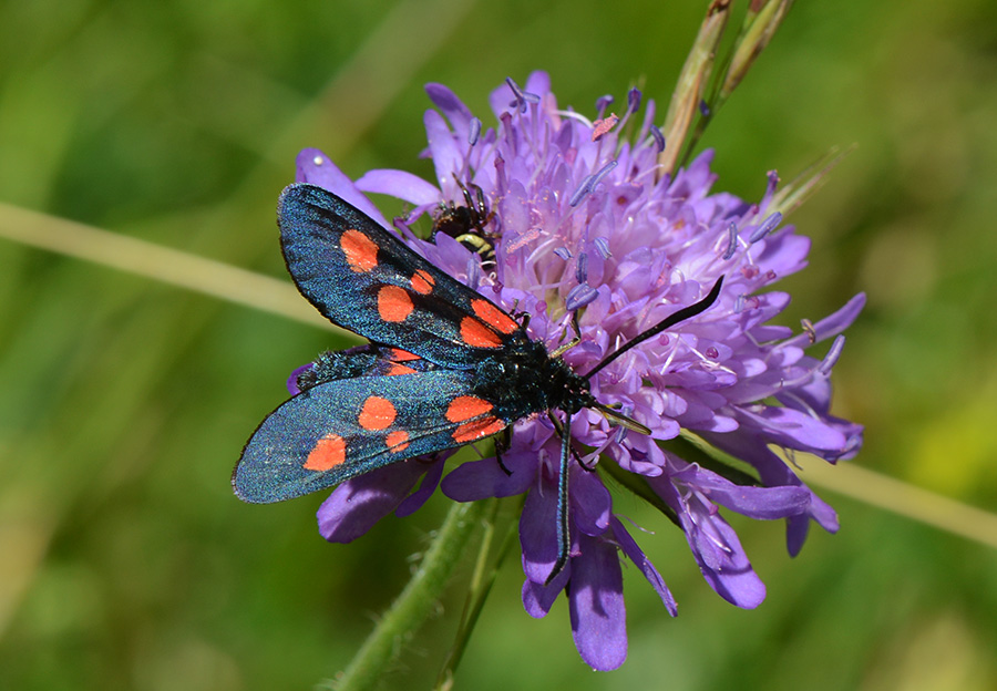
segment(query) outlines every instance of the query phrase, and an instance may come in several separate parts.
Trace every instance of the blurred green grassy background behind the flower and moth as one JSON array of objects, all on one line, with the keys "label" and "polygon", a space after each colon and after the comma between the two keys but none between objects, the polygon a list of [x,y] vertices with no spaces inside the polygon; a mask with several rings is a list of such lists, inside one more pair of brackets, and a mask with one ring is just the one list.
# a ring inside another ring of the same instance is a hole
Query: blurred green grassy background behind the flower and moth
[{"label": "blurred green grassy background behind the flower and moth", "polygon": [[[299,148],[353,176],[429,177],[422,84],[489,124],[489,92],[534,69],[563,105],[592,113],[640,81],[664,114],[703,8],[2,2],[0,202],[286,280],[274,208]],[[834,373],[837,412],[867,425],[855,463],[994,510],[997,4],[799,0],[705,140],[716,188],[750,199],[767,171],[789,179],[852,143],[792,218],[813,251],[782,285],[783,322],[867,291]],[[288,372],[343,344],[0,239],[0,689],[301,689],[350,660],[446,501],[332,546],[321,496],[248,506],[228,485]],[[679,532],[619,502],[656,530],[640,543],[680,615],[629,569],[613,673],[578,659],[564,601],[525,615],[511,559],[458,688],[997,688],[997,551],[822,494],[842,530],[795,559],[781,524],[732,519],[769,587],[754,611],[707,587]],[[386,688],[430,684],[465,579]]]}]

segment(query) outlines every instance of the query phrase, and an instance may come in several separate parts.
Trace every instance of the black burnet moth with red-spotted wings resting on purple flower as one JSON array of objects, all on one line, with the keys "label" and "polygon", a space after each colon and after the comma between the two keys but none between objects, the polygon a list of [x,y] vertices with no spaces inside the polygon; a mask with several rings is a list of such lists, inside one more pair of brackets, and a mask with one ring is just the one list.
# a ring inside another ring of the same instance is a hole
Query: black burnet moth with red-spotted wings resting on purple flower
[{"label": "black burnet moth with red-spotted wings resting on purple flower", "polygon": [[[474,207],[479,219],[483,207],[483,200]],[[543,413],[562,437],[558,553],[549,582],[567,564],[571,547],[572,416],[590,408],[648,432],[599,403],[589,380],[630,348],[708,309],[722,277],[702,300],[580,374],[561,358],[577,341],[548,352],[530,338],[525,323],[321,187],[287,187],[278,225],[288,271],[301,293],[332,323],[370,344],[327,353],[298,378],[301,392],[270,413],[246,443],[232,475],[236,495],[250,503],[290,499],[484,440]]]}]

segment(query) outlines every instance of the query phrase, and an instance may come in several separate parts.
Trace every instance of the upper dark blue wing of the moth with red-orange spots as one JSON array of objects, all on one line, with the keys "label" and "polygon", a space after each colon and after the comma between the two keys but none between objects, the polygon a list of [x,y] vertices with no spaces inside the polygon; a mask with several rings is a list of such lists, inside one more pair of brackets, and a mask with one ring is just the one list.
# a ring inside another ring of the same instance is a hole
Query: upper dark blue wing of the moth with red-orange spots
[{"label": "upper dark blue wing of the moth with red-orange spots", "polygon": [[470,369],[526,338],[493,302],[321,187],[287,187],[278,225],[301,293],[330,321],[371,341]]}]

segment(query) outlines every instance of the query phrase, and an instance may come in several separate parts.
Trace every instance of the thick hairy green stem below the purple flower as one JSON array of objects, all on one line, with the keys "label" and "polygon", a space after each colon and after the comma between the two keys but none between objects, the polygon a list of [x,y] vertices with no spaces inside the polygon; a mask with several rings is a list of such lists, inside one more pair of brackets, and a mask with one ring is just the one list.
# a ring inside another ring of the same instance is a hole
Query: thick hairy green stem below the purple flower
[{"label": "thick hairy green stem below the purple flower", "polygon": [[378,621],[349,667],[323,688],[360,691],[378,685],[381,677],[393,668],[404,643],[436,609],[483,510],[482,502],[453,505],[412,580]]}]

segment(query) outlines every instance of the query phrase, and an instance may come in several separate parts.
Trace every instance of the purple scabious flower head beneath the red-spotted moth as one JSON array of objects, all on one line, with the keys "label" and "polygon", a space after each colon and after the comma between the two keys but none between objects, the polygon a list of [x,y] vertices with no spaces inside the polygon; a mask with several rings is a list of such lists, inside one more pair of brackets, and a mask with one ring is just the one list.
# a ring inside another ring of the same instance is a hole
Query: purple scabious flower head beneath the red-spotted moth
[{"label": "purple scabious flower head beneath the red-spotted moth", "polygon": [[[702,299],[719,277],[726,280],[710,309],[627,351],[593,378],[596,399],[651,433],[613,426],[597,411],[575,415],[572,436],[576,448],[589,450],[582,456],[587,467],[571,462],[571,558],[549,584],[561,441],[542,415],[515,425],[504,468],[494,458],[467,462],[441,483],[448,454],[438,454],[343,483],[319,509],[322,535],[349,542],[393,509],[411,513],[438,484],[461,502],[525,494],[525,608],[543,617],[565,591],[579,653],[593,668],[609,670],[623,663],[627,649],[620,554],[676,613],[664,579],[614,515],[603,474],[592,472],[615,466],[610,474],[634,481],[624,486],[640,484],[671,514],[721,597],[757,607],[764,586],[718,506],[787,519],[791,554],[811,520],[837,529],[834,510],[770,446],[832,463],[859,451],[862,427],[829,412],[829,375],[843,346],[840,333],[864,297],[795,336],[770,324],[790,299],[772,290],[773,283],[802,269],[810,248],[770,209],[778,177],[769,174],[762,198],[752,204],[711,193],[709,151],[662,175],[658,156],[665,142],[652,124],[655,105],[644,105],[641,115],[636,90],[621,104],[623,115],[607,114],[611,99],[604,97],[589,120],[557,107],[544,73],[532,74],[522,89],[507,80],[492,93],[497,125],[491,128],[445,86],[430,84],[426,91],[439,109],[425,114],[425,153],[439,186],[401,171],[371,171],[352,182],[317,149],[299,155],[298,181],[339,194],[382,224],[366,193],[413,205],[395,220],[410,246],[510,312],[528,314],[532,338],[548,351],[574,336],[576,314],[582,340],[563,355],[575,371],[588,372],[641,331]],[[470,231],[494,245],[494,257],[443,234],[430,243],[411,230],[424,214],[464,206],[475,187],[487,214],[484,226]],[[805,354],[830,338],[823,359]],[[754,476],[736,483],[729,478],[734,475],[680,457],[668,441],[690,433],[750,464]]]}]

